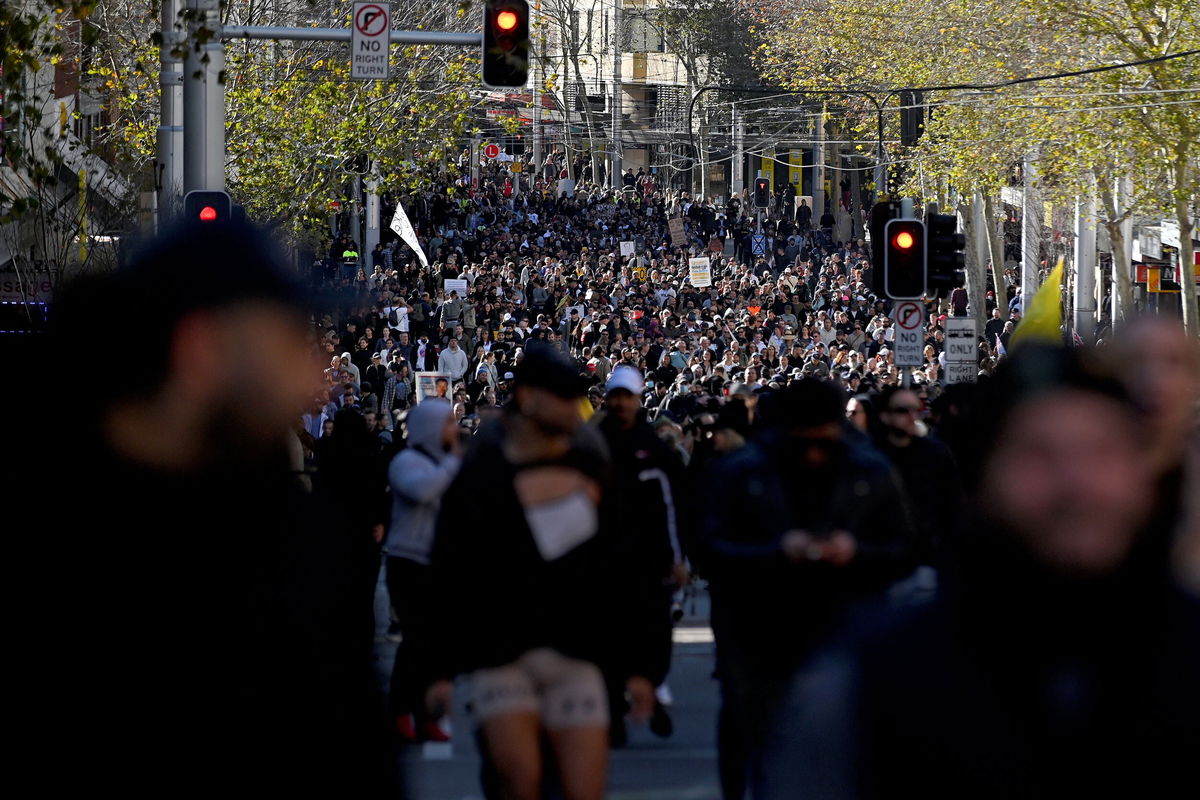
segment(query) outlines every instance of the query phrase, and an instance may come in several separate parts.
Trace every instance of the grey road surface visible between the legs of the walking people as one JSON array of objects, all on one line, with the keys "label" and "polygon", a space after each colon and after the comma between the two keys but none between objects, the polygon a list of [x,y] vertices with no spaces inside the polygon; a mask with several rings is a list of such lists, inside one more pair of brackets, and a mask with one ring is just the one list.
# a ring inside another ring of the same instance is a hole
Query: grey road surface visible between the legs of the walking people
[{"label": "grey road surface visible between the legs of the walking people", "polygon": [[[376,595],[377,668],[386,681],[396,645],[386,638],[388,596],[383,582]],[[666,740],[644,726],[631,726],[629,745],[611,751],[611,800],[715,800],[718,685],[713,679],[714,645],[708,627],[708,595],[701,590],[684,604],[685,616],[676,627],[674,656],[667,682],[674,703],[674,734]],[[460,684],[460,688],[462,685]],[[479,754],[462,692],[451,727],[454,742],[408,748],[403,770],[413,800],[482,800]]]}]

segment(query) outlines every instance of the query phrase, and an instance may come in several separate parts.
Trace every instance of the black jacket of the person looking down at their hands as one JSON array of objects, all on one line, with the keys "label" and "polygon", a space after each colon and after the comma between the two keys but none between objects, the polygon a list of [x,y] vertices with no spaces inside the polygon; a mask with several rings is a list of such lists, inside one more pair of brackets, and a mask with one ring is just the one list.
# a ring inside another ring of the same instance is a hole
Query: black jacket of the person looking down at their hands
[{"label": "black jacket of the person looking down at their hands", "polygon": [[[844,441],[821,469],[796,463],[787,441],[772,434],[731,453],[709,476],[701,522],[719,649],[784,674],[851,604],[881,594],[912,566],[900,485],[874,449]],[[851,533],[854,560],[845,567],[788,560],[780,542],[797,529]]]}]

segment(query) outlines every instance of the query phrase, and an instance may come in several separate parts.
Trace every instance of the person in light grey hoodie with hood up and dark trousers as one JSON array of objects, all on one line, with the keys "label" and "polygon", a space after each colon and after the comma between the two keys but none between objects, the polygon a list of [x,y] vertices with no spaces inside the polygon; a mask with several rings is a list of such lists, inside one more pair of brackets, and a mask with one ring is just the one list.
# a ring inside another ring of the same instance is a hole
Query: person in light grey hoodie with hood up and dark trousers
[{"label": "person in light grey hoodie with hood up and dark trousers", "polygon": [[430,676],[422,666],[421,612],[432,594],[430,552],[442,494],[462,465],[462,443],[445,399],[431,397],[414,407],[406,427],[408,446],[388,468],[392,494],[391,524],[384,543],[388,596],[403,637],[392,666],[389,705],[396,732],[404,739],[446,741],[448,735],[424,710]]}]

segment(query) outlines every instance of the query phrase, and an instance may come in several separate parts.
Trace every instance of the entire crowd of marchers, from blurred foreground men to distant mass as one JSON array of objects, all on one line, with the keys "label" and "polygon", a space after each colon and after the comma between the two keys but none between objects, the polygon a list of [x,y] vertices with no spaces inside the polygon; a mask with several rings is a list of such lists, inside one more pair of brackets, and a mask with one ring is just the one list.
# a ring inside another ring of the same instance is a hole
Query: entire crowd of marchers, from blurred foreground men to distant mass
[{"label": "entire crowd of marchers, from blurred foreground men to distant mass", "polygon": [[[726,800],[1194,784],[1200,353],[1177,324],[1022,339],[1002,285],[929,303],[902,368],[834,215],[776,209],[758,239],[749,197],[533,167],[443,175],[304,281],[230,223],[64,293],[56,354],[98,331],[137,354],[72,362],[91,408],[47,426],[88,475],[58,531],[88,563],[53,583],[106,621],[71,704],[131,728],[80,772],[137,753],[167,794],[376,796],[391,744],[449,739],[464,690],[488,798],[599,800],[626,726],[672,734],[672,625],[703,587]],[[967,313],[979,381],[947,384]]]}]

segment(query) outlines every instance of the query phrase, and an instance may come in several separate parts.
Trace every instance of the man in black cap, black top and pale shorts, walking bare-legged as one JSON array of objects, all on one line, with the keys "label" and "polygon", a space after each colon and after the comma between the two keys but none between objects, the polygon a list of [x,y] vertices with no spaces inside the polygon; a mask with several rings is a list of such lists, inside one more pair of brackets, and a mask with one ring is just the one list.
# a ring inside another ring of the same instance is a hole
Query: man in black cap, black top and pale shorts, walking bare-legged
[{"label": "man in black cap, black top and pale shorts, walking bare-legged", "polygon": [[544,733],[564,796],[604,794],[604,672],[625,676],[635,718],[654,704],[654,654],[630,636],[650,620],[611,583],[611,473],[602,441],[581,423],[584,389],[553,350],[528,353],[508,414],[476,434],[446,492],[434,539],[430,654],[440,680],[428,704],[449,709],[450,679],[470,675],[505,798],[539,796]]}]

